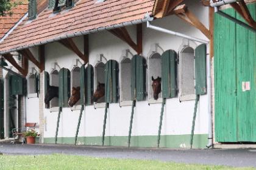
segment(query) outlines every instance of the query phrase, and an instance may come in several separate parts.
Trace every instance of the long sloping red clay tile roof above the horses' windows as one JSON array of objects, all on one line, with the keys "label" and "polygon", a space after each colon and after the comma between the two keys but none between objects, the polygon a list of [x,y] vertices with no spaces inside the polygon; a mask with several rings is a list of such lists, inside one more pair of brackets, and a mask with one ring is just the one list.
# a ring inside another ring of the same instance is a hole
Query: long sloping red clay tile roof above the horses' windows
[{"label": "long sloping red clay tile roof above the horses' windows", "polygon": [[48,39],[143,19],[152,13],[154,0],[80,0],[76,6],[57,15],[44,10],[32,22],[23,21],[1,44],[0,53],[32,46]]}]

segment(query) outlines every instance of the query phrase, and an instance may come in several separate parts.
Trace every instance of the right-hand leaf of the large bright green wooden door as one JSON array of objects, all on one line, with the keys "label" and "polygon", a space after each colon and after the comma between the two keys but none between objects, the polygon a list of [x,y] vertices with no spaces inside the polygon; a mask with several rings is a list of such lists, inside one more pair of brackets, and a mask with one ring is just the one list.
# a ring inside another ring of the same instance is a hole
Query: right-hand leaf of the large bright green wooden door
[{"label": "right-hand leaf of the large bright green wooden door", "polygon": [[[256,19],[256,3],[248,5]],[[241,19],[240,15],[236,18]],[[256,33],[236,24],[238,141],[256,141]],[[243,90],[250,86],[250,90]],[[246,87],[244,87],[246,88]]]}]

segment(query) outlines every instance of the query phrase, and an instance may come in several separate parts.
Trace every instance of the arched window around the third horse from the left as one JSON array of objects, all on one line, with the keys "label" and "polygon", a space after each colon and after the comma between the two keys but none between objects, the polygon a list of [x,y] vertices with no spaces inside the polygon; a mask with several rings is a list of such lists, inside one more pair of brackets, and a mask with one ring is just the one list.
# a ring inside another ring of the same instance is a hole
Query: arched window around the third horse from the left
[{"label": "arched window around the third horse from the left", "polygon": [[[105,83],[105,64],[102,62],[99,62],[95,66],[95,81],[94,81],[94,89],[97,90],[98,83]],[[99,104],[99,103],[103,103]],[[98,101],[95,103],[95,107],[104,107],[105,106],[105,96],[98,99]],[[102,105],[102,106],[101,106]]]}]

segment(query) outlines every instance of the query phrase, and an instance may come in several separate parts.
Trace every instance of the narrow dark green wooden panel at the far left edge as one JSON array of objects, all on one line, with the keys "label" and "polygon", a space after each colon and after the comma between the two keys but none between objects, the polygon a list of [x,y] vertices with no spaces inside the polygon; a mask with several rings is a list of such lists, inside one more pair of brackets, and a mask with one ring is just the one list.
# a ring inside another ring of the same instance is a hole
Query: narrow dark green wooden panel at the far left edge
[{"label": "narrow dark green wooden panel at the far left edge", "polygon": [[0,139],[4,138],[4,81],[0,79]]}]

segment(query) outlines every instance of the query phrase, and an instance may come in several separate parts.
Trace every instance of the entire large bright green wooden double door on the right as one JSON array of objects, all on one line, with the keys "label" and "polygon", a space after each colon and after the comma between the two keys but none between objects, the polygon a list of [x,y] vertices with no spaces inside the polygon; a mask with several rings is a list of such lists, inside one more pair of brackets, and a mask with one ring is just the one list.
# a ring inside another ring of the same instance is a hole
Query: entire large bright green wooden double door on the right
[{"label": "entire large bright green wooden double door on the right", "polygon": [[[254,18],[255,5],[248,6]],[[233,9],[224,12],[240,18]],[[255,39],[255,33],[215,15],[216,141],[256,141]],[[243,91],[243,82],[251,89]]]}]

